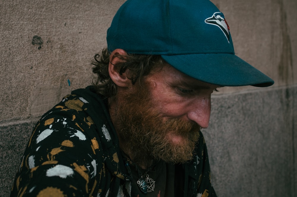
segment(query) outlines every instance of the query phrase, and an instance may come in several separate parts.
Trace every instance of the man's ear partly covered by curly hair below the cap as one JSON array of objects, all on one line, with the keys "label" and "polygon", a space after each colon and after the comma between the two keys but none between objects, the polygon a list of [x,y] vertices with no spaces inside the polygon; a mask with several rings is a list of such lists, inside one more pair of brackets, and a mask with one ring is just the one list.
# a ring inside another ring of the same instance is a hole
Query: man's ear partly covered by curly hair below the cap
[{"label": "man's ear partly covered by curly hair below the cap", "polygon": [[116,67],[115,65],[119,62],[123,62],[121,57],[117,56],[126,56],[127,52],[123,49],[115,49],[109,57],[109,65],[108,65],[108,73],[111,78],[111,80],[119,87],[130,87],[132,85],[132,82],[127,77],[127,72],[129,72],[128,69],[122,74],[120,74],[120,69]]}]

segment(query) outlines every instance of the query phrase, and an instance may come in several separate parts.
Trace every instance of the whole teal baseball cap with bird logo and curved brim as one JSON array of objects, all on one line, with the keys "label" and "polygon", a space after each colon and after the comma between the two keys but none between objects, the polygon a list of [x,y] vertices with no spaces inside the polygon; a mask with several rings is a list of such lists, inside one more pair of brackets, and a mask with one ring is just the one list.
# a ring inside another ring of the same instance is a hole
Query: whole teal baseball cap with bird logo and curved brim
[{"label": "whole teal baseball cap with bird logo and curved brim", "polygon": [[128,0],[107,30],[107,46],[161,55],[182,73],[210,84],[274,84],[235,55],[225,16],[208,0]]}]

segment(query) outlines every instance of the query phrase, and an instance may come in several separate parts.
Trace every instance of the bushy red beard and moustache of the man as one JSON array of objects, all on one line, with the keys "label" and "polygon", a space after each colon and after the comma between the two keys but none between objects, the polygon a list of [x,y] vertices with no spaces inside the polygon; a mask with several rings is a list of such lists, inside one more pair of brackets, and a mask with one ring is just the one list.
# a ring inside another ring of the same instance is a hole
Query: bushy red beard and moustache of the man
[{"label": "bushy red beard and moustache of the man", "polygon": [[[164,122],[149,90],[149,83],[137,83],[132,92],[113,98],[110,115],[121,148],[135,163],[151,159],[171,163],[191,160],[200,127],[179,118]],[[173,140],[172,136],[179,140]]]}]

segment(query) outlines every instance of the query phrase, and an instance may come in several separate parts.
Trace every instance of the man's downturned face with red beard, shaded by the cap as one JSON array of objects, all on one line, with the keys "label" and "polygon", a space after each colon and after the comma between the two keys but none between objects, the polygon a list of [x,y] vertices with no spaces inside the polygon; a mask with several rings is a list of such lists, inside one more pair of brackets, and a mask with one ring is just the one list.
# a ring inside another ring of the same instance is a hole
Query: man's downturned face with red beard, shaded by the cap
[{"label": "man's downturned face with red beard, shaded by the cap", "polygon": [[170,65],[118,96],[113,123],[129,155],[166,162],[192,158],[200,127],[208,126],[211,93],[217,85],[193,79]]}]

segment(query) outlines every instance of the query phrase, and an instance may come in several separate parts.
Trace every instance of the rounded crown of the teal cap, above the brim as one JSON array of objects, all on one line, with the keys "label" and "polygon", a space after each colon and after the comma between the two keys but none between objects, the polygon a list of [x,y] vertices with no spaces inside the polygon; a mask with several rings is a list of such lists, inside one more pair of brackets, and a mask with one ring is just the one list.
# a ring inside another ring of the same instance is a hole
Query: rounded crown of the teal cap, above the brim
[{"label": "rounded crown of the teal cap, above the brim", "polygon": [[230,32],[224,33],[221,24],[228,26],[208,0],[128,0],[107,31],[108,49],[154,55],[234,54]]}]

